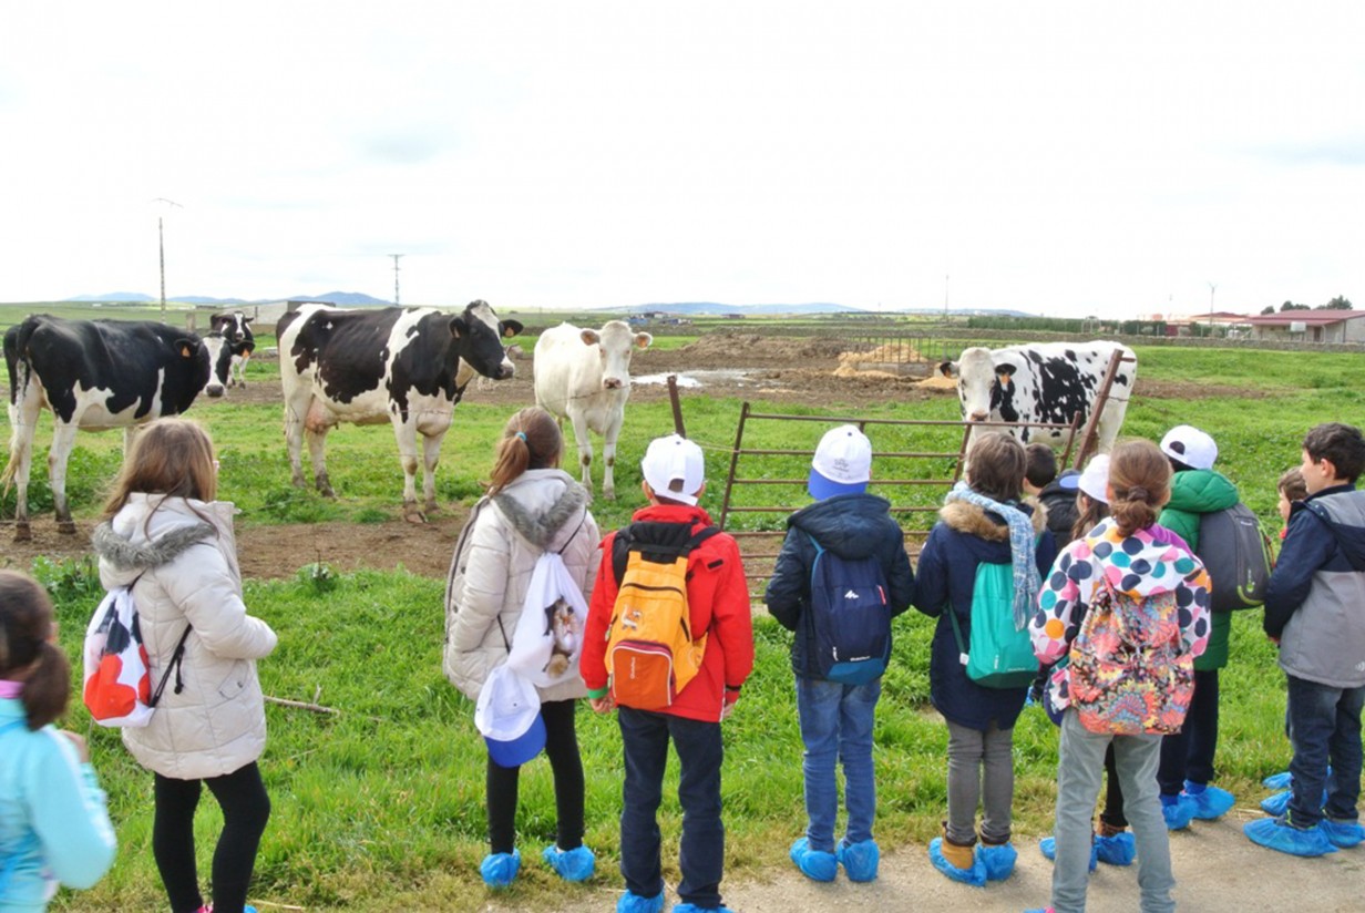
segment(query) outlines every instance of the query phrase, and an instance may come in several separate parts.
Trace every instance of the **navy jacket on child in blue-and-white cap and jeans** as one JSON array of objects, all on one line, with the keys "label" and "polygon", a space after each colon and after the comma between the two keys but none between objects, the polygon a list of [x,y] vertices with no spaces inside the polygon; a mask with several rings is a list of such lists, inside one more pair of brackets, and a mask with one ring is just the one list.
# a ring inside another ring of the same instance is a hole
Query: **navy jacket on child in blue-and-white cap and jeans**
[{"label": "navy jacket on child in blue-and-white cap and jeans", "polygon": [[815,622],[808,609],[816,553],[809,536],[841,558],[875,557],[886,576],[893,617],[915,600],[915,573],[905,554],[905,534],[891,519],[890,506],[886,498],[875,494],[839,494],[801,508],[786,519],[786,539],[763,600],[779,625],[796,632],[792,670],[799,677],[815,674],[807,661],[815,640]]}]

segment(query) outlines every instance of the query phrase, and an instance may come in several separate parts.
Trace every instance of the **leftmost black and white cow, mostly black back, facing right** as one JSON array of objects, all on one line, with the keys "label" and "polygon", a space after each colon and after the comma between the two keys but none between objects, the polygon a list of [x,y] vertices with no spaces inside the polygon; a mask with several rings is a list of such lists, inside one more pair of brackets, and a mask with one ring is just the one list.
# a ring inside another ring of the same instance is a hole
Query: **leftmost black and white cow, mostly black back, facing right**
[{"label": "leftmost black and white cow, mostly black back, facing right", "polygon": [[[218,347],[214,347],[218,348]],[[220,349],[221,351],[221,349]],[[190,408],[210,382],[210,345],[194,333],[154,321],[68,321],[29,317],[4,334],[10,375],[10,461],[15,539],[30,538],[29,471],[41,409],[53,416],[48,471],[59,532],[75,532],[67,505],[67,457],[76,430],[124,429],[124,449],[135,426]],[[220,359],[221,360],[221,359]],[[225,362],[222,362],[225,364]]]}]

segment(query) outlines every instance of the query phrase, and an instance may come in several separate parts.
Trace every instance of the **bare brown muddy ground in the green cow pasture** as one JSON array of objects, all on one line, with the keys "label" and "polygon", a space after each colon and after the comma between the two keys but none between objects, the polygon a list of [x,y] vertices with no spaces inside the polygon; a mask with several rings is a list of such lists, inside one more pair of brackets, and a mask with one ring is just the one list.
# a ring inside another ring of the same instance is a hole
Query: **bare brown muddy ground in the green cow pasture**
[{"label": "bare brown muddy ground in the green cow pasture", "polygon": [[[702,371],[707,373],[704,385],[707,396],[763,398],[827,408],[856,409],[860,405],[891,398],[906,401],[954,396],[949,382],[924,382],[923,373],[927,366],[910,377],[895,377],[885,371],[850,373],[848,359],[841,362],[839,358],[845,348],[841,340],[740,332],[711,333],[678,349],[646,349],[636,353],[632,374],[644,377]],[[741,370],[743,375],[738,374]],[[726,374],[728,371],[736,374]],[[1226,393],[1193,383],[1149,382],[1143,378],[1137,382],[1138,396],[1160,398],[1197,398]],[[274,382],[257,382],[246,390],[232,390],[229,396],[236,401],[280,403],[280,386]],[[534,403],[530,352],[519,359],[515,378],[485,383],[482,389],[471,389],[467,396],[476,397],[480,403],[508,407]],[[636,383],[631,390],[632,401],[655,401],[666,397],[667,388],[662,383]],[[463,508],[448,505],[442,512],[429,517],[425,525],[400,520],[370,525],[354,523],[243,525],[238,530],[242,573],[258,579],[288,577],[300,566],[322,560],[343,572],[359,568],[392,570],[403,566],[415,575],[444,577],[464,516]],[[33,540],[15,543],[12,521],[0,523],[0,566],[27,568],[37,555],[57,560],[86,554],[93,524],[81,521],[76,525],[75,535],[59,535],[51,517],[35,517]]]}]

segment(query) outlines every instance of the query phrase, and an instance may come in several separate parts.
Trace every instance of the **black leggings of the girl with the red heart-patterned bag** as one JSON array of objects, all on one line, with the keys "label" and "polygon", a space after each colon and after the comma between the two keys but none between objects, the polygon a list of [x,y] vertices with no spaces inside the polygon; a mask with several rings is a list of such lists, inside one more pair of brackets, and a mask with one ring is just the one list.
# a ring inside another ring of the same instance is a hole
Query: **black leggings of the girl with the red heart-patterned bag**
[{"label": "black leggings of the girl with the red heart-patterned bag", "polygon": [[203,906],[194,861],[194,809],[199,805],[201,783],[207,785],[222,809],[222,834],[213,850],[213,909],[214,913],[242,913],[261,834],[270,819],[270,797],[255,762],[225,777],[203,781],[157,774],[152,853],[172,913],[195,913]]}]

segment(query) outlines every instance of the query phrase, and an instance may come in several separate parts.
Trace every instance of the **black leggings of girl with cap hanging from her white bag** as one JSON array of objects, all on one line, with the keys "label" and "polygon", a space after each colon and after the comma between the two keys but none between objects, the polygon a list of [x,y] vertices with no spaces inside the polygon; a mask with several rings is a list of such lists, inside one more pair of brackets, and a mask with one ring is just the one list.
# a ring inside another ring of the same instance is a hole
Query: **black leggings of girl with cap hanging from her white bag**
[{"label": "black leggings of girl with cap hanging from her white bag", "polygon": [[[583,846],[583,762],[573,731],[576,700],[541,704],[545,719],[545,753],[554,775],[554,811],[558,817],[554,843],[561,850]],[[516,846],[516,792],[520,767],[498,767],[489,759],[489,845],[494,853]],[[214,912],[217,913],[217,912]]]}]

